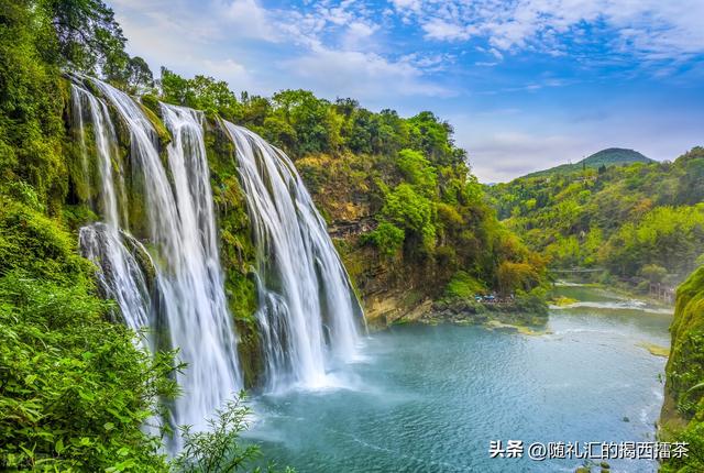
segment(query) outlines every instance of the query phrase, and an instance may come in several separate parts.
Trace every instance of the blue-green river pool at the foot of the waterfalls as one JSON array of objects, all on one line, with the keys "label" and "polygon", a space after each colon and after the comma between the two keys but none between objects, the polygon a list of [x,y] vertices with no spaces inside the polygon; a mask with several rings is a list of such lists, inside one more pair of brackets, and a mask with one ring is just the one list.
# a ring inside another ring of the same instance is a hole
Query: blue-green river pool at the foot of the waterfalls
[{"label": "blue-green river pool at the foot of the waterfalls", "polygon": [[654,440],[666,359],[640,344],[669,345],[671,312],[594,288],[560,292],[580,302],[552,308],[547,334],[452,324],[373,333],[329,386],[255,397],[246,436],[299,473],[574,472],[582,460],[491,458],[490,442]]}]

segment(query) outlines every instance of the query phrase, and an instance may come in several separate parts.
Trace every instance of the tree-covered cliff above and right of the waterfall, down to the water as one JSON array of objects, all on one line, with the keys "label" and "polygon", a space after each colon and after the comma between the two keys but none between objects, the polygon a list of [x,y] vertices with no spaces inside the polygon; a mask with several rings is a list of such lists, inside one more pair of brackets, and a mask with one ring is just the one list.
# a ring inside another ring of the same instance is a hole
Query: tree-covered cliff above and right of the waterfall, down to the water
[{"label": "tree-covered cliff above and right of the waterfall, down to the water", "polygon": [[375,113],[306,90],[237,97],[167,69],[158,84],[163,100],[245,125],[294,160],[365,301],[394,295],[410,309],[441,296],[457,272],[481,293],[529,293],[544,280],[543,260],[497,221],[451,125],[433,113]]}]

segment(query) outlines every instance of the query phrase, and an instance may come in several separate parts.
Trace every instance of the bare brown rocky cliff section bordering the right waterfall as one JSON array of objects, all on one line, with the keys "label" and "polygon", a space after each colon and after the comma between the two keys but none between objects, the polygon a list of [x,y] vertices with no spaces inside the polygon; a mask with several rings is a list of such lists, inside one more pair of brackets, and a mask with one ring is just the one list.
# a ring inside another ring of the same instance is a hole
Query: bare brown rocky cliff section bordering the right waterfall
[{"label": "bare brown rocky cliff section bordering the right waterfall", "polygon": [[411,241],[394,254],[384,254],[367,240],[384,205],[380,184],[389,179],[393,169],[366,155],[309,156],[298,160],[296,166],[328,221],[367,323],[385,327],[404,316],[427,312],[430,299],[442,293],[451,273],[439,271],[431,255],[414,252]]}]

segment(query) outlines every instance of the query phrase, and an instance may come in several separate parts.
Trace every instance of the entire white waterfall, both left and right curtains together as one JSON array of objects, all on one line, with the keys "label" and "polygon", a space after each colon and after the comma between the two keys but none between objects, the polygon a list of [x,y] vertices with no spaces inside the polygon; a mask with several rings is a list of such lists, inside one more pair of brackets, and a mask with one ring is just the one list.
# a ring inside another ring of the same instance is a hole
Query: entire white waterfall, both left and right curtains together
[{"label": "entire white waterfall, both left and right curtains together", "polygon": [[[84,87],[87,81],[100,97]],[[172,135],[164,158],[154,125],[132,98],[99,80],[75,82],[81,165],[88,179],[95,174],[99,180],[100,198],[92,204],[102,217],[80,230],[81,251],[100,267],[102,289],[124,322],[148,329],[143,346],[179,350],[188,366],[176,374],[184,394],[169,421],[204,428],[242,380],[218,255],[202,113],[161,105]],[[86,143],[88,125],[95,146]],[[223,125],[235,144],[256,240],[266,387],[324,385],[331,361],[354,355],[363,320],[359,301],[293,163],[246,129]],[[123,157],[119,143],[125,134],[130,153]],[[175,439],[172,448],[178,447]]]}]

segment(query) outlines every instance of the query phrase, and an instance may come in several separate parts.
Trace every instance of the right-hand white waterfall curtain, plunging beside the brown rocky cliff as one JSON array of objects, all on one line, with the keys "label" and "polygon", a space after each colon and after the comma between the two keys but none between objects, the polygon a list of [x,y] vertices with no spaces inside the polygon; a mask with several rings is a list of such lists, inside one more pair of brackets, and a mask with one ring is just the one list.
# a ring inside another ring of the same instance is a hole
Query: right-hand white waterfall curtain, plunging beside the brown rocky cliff
[{"label": "right-hand white waterfall curtain, plunging beside the brown rocky cliff", "polygon": [[257,250],[267,388],[326,385],[330,361],[354,355],[359,301],[290,160],[255,133],[223,123],[235,144]]}]

